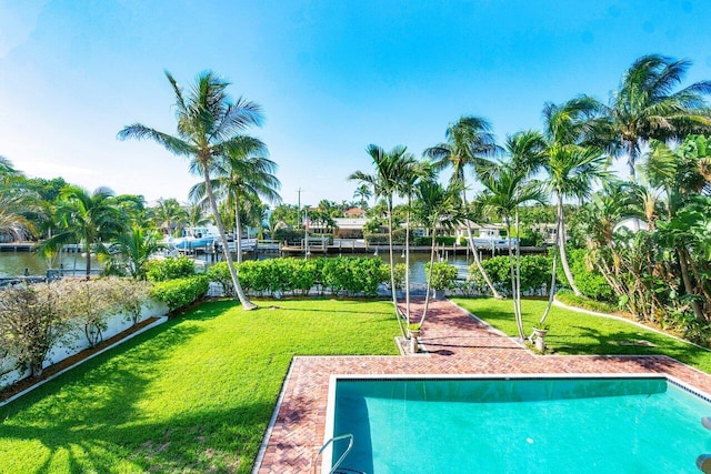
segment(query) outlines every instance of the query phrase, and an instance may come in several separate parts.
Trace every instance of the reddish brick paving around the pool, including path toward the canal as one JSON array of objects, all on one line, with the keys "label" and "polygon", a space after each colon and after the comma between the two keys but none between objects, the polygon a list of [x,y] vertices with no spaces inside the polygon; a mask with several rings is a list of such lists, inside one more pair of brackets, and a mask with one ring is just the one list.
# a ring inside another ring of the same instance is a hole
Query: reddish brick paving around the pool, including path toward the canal
[{"label": "reddish brick paving around the pool, including path toward the canal", "polygon": [[535,355],[449,301],[430,303],[421,341],[427,355],[294,357],[254,473],[313,472],[331,375],[664,374],[711,393],[710,375],[667,356]]}]

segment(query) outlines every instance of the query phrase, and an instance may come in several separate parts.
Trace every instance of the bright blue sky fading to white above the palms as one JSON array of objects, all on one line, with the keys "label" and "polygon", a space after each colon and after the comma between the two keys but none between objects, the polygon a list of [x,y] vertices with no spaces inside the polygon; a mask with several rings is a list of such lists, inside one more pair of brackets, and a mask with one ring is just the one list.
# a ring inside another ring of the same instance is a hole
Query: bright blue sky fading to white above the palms
[{"label": "bright blue sky fading to white above the palms", "polygon": [[0,0],[0,155],[29,175],[187,199],[188,164],[141,122],[174,132],[163,70],[211,69],[260,103],[286,202],[351,200],[369,143],[415,154],[462,114],[497,135],[540,128],[547,101],[607,100],[647,53],[711,79],[708,0],[412,2]]}]

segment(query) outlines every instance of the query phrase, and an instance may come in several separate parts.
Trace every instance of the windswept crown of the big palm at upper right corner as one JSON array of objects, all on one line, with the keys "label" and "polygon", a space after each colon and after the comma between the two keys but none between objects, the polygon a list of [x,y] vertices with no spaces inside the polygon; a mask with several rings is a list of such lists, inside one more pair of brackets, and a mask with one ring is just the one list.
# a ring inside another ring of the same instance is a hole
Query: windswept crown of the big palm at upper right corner
[{"label": "windswept crown of the big palm at upper right corner", "polygon": [[643,56],[627,70],[609,104],[600,105],[597,139],[613,154],[627,154],[632,181],[640,148],[650,139],[681,139],[711,130],[711,112],[704,101],[711,81],[674,91],[690,67],[688,60]]}]

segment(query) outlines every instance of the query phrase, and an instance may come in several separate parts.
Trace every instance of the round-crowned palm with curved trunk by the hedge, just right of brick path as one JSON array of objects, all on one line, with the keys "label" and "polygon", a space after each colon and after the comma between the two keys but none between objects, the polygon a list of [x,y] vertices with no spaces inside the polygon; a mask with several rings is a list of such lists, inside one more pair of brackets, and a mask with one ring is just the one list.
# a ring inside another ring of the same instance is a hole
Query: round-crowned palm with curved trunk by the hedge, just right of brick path
[{"label": "round-crowned palm with curved trunk by the hedge, just right of brick path", "polygon": [[[491,132],[491,124],[479,117],[464,115],[455,123],[450,123],[445,132],[447,142],[437,144],[424,150],[424,155],[434,160],[434,167],[443,169],[452,167],[450,183],[457,184],[461,189],[462,206],[467,209],[467,180],[465,170],[474,168],[478,163],[485,162],[499,152],[495,138]],[[471,235],[471,223],[467,223],[467,239],[474,255],[477,269],[483,276],[491,293],[497,299],[502,299],[494,288],[491,279],[487,274],[479,252]]]}]

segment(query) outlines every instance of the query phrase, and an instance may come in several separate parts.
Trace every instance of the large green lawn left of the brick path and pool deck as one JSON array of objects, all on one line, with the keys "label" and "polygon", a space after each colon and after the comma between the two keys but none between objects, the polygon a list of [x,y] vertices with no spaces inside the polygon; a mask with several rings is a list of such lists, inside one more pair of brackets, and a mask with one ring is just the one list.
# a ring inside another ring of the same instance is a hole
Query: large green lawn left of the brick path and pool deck
[{"label": "large green lawn left of the brick path and pool deck", "polygon": [[387,302],[260,305],[202,304],[0,407],[0,472],[249,473],[294,354],[397,354]]}]

